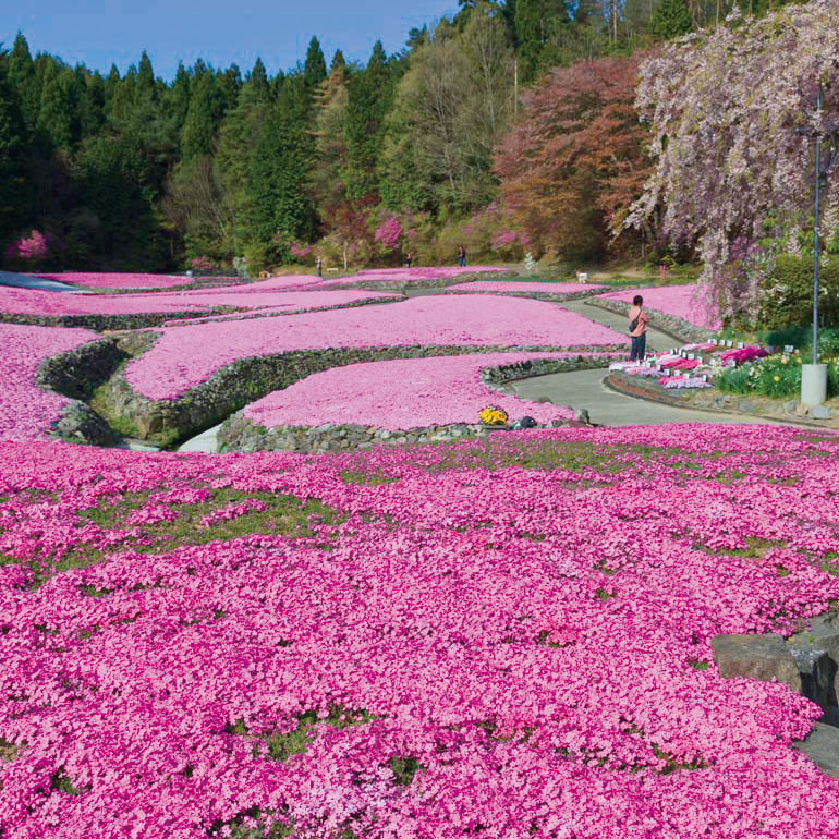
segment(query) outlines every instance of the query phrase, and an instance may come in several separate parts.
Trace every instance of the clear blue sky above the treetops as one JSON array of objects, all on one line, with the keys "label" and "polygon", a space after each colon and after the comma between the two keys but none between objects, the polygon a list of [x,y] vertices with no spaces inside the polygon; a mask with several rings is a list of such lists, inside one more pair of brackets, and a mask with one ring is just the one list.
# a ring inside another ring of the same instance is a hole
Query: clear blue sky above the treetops
[{"label": "clear blue sky above the treetops", "polygon": [[179,61],[202,58],[215,66],[250,70],[262,56],[269,73],[303,61],[316,35],[327,64],[340,48],[364,61],[380,38],[398,52],[412,26],[455,12],[457,0],[8,0],[0,42],[11,47],[20,29],[35,52],[107,72],[136,63],[145,49],[155,73],[171,78]]}]

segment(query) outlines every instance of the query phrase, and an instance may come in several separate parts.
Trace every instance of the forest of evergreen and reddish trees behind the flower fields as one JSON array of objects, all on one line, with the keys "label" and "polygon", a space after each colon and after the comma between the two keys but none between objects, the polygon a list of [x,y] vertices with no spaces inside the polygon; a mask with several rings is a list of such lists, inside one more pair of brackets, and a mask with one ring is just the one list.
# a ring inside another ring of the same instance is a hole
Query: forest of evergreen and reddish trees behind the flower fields
[{"label": "forest of evergreen and reddish trees behind the flower fields", "polygon": [[[767,11],[750,0],[743,13]],[[366,62],[270,75],[144,52],[107,75],[0,46],[7,267],[362,267],[471,258],[568,265],[660,247],[623,221],[653,172],[642,59],[728,0],[459,0]],[[28,248],[28,250],[27,250]]]}]

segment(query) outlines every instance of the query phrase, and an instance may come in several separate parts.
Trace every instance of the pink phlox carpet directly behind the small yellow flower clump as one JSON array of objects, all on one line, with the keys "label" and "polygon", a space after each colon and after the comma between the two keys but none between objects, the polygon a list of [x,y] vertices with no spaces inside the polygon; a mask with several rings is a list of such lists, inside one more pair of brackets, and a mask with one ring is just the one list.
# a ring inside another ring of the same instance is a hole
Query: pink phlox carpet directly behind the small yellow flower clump
[{"label": "pink phlox carpet directly behind the small yellow flower clump", "polygon": [[481,410],[491,402],[512,420],[525,415],[538,423],[573,420],[569,408],[528,402],[481,381],[481,370],[487,367],[569,355],[490,353],[332,367],[252,402],[243,413],[266,428],[332,424],[396,430],[477,423]]}]

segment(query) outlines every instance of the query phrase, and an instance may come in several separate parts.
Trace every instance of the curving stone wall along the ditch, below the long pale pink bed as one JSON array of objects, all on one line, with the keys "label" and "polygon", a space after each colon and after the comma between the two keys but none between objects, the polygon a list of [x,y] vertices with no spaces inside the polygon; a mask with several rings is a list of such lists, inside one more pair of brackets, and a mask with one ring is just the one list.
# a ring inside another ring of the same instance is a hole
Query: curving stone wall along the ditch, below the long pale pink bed
[{"label": "curving stone wall along the ditch, below the long pale pink bed", "polygon": [[[137,336],[145,336],[139,339]],[[98,354],[92,350],[71,351],[45,362],[52,375],[48,387],[71,399],[89,398],[96,392],[97,412],[105,416],[111,427],[120,428],[126,436],[150,441],[167,447],[189,439],[207,428],[218,425],[231,414],[250,402],[270,393],[272,390],[293,385],[306,376],[320,373],[330,367],[341,367],[362,362],[388,361],[392,358],[422,358],[439,355],[466,355],[471,353],[496,352],[620,352],[619,346],[563,348],[563,346],[387,346],[364,349],[307,350],[292,353],[279,353],[251,358],[241,358],[226,365],[212,374],[205,382],[182,393],[175,399],[153,401],[136,393],[125,379],[124,368],[127,358],[144,352],[157,340],[154,332],[135,333],[136,340],[146,343],[141,348],[126,348],[125,337],[102,339],[113,342],[109,352],[119,357],[109,361],[113,372],[101,384],[102,372],[99,369]],[[150,343],[149,343],[150,342]],[[97,343],[97,342],[94,342]],[[85,345],[89,346],[89,345]],[[134,351],[136,350],[136,352]],[[85,376],[86,365],[93,365],[89,376]],[[73,376],[60,375],[64,366],[74,370]],[[95,382],[93,387],[81,388],[81,379]],[[98,385],[98,389],[96,386]]]}]

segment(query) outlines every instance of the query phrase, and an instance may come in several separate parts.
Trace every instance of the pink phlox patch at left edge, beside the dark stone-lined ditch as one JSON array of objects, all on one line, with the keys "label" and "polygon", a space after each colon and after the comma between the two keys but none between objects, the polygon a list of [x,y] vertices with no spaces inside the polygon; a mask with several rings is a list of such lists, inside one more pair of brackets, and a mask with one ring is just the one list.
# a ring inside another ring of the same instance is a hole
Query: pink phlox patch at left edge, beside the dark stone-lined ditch
[{"label": "pink phlox patch at left edge, beside the dark stone-lined ditch", "polygon": [[45,358],[96,338],[86,329],[0,324],[0,439],[47,438],[70,400],[36,387],[35,372]]}]

